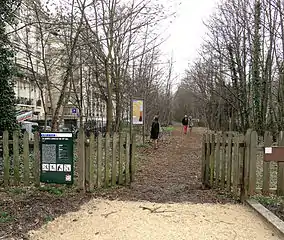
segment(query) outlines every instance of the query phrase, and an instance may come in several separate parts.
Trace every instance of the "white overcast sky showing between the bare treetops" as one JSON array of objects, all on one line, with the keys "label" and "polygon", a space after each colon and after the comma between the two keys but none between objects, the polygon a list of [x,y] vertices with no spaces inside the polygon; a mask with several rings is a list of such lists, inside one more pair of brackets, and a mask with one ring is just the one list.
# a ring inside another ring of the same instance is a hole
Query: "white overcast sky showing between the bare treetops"
[{"label": "white overcast sky showing between the bare treetops", "polygon": [[[161,1],[167,2],[167,0]],[[161,46],[168,59],[173,53],[174,73],[180,75],[177,81],[182,78],[188,63],[197,57],[197,50],[206,32],[203,21],[214,12],[218,0],[179,0],[179,2],[181,4],[176,8],[177,17],[166,32],[170,37]]]}]

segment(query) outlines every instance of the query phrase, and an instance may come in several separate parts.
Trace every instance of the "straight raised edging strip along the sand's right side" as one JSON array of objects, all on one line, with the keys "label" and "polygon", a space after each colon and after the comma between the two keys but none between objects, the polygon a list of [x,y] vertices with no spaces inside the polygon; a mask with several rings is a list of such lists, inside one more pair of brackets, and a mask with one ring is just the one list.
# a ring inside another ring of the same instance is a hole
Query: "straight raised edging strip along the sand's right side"
[{"label": "straight raised edging strip along the sand's right side", "polygon": [[246,200],[246,204],[257,212],[261,218],[266,221],[274,230],[276,230],[282,237],[284,237],[284,222],[274,213],[264,207],[255,199]]}]

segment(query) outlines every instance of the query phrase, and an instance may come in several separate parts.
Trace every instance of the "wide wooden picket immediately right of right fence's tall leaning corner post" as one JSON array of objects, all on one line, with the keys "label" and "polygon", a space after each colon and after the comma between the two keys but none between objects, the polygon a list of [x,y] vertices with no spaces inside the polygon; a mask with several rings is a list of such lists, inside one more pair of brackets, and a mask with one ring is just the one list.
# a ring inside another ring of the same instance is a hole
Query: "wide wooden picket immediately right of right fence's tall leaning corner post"
[{"label": "wide wooden picket immediately right of right fence's tall leaning corner post", "polygon": [[249,189],[248,194],[252,196],[256,189],[256,155],[257,155],[257,132],[250,135],[250,158],[249,158]]}]

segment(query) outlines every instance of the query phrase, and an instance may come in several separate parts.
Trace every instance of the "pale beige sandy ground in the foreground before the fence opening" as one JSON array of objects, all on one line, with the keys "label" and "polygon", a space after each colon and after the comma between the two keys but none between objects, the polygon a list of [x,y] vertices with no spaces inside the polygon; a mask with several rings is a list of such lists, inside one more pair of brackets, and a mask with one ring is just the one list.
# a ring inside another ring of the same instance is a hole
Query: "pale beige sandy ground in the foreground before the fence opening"
[{"label": "pale beige sandy ground in the foreground before the fence opening", "polygon": [[29,235],[32,240],[281,239],[242,205],[154,205],[102,199],[92,200],[80,211],[61,216]]}]

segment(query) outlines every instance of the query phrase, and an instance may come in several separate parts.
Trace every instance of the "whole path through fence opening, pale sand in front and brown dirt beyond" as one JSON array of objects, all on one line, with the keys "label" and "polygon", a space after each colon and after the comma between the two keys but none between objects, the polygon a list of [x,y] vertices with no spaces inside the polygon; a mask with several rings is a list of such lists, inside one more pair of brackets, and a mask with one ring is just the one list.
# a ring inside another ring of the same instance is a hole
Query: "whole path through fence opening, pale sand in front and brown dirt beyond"
[{"label": "whole path through fence opening, pale sand in front and brown dirt beyond", "polygon": [[176,129],[158,150],[141,152],[130,189],[107,191],[30,239],[281,239],[247,207],[202,190],[201,131],[182,138]]}]

